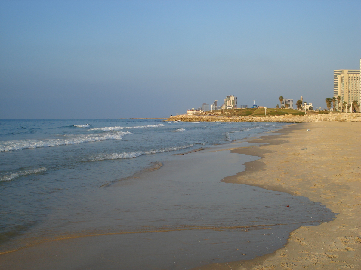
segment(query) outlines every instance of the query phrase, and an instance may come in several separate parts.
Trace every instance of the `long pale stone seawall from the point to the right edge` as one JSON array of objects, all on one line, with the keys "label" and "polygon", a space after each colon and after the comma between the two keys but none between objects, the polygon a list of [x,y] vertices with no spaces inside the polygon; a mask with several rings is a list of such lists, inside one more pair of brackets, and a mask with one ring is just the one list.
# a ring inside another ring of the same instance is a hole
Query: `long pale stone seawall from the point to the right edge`
[{"label": "long pale stone seawall from the point to the right edge", "polygon": [[166,121],[183,121],[183,122],[285,122],[285,123],[303,123],[317,121],[341,121],[356,122],[361,121],[361,113],[330,113],[330,114],[306,114],[298,115],[280,115],[280,116],[212,116],[212,115],[186,115],[179,114],[169,117]]}]

